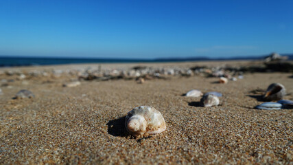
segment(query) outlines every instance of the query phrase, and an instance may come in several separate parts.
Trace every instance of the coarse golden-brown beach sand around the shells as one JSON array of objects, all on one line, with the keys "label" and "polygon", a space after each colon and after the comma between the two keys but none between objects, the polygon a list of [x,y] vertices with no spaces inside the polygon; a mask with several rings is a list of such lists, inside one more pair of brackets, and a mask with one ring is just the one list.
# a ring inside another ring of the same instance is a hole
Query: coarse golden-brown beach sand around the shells
[{"label": "coarse golden-brown beach sand around the shells", "polygon": [[[12,69],[77,67],[86,65]],[[244,74],[227,84],[215,83],[218,78],[174,76],[143,84],[93,80],[62,87],[72,77],[23,83],[2,74],[0,79],[14,82],[1,87],[0,164],[292,164],[293,109],[254,109],[262,101],[250,92],[281,83],[287,89],[285,99],[293,100],[290,76]],[[36,97],[12,99],[21,89]],[[191,89],[221,92],[220,106],[200,107],[200,98],[182,96]],[[161,111],[167,130],[145,138],[130,136],[124,116],[141,105]]]}]

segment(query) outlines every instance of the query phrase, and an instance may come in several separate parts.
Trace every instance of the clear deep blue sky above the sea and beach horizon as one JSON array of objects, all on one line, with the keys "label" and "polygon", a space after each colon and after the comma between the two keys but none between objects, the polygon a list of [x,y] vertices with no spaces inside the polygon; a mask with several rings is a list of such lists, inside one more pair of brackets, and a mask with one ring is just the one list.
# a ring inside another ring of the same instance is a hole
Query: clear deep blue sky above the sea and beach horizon
[{"label": "clear deep blue sky above the sea and beach horizon", "polygon": [[0,1],[0,54],[97,58],[293,53],[293,1]]}]

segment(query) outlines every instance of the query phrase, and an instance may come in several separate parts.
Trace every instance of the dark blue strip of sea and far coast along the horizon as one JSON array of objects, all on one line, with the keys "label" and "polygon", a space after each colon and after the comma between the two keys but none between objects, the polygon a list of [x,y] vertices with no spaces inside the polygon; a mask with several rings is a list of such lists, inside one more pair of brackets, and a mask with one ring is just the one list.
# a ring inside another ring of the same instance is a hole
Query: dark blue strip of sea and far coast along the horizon
[{"label": "dark blue strip of sea and far coast along the horizon", "polygon": [[[293,54],[281,54],[293,60]],[[262,60],[265,56],[250,57],[231,57],[231,58],[154,58],[154,59],[135,59],[135,58],[67,58],[67,57],[23,57],[23,56],[0,56],[0,67],[21,67],[38,65],[64,65],[82,63],[168,63],[168,62],[189,62],[189,61],[237,61],[237,60]]]}]

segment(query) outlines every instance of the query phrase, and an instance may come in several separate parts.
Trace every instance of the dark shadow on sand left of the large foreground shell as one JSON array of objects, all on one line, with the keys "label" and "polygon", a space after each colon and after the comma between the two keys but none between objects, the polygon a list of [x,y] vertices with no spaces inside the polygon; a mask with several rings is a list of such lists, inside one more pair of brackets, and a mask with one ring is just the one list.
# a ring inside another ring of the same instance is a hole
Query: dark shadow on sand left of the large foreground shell
[{"label": "dark shadow on sand left of the large foreground shell", "polygon": [[110,120],[107,123],[108,133],[113,136],[126,137],[128,133],[125,128],[125,116]]}]

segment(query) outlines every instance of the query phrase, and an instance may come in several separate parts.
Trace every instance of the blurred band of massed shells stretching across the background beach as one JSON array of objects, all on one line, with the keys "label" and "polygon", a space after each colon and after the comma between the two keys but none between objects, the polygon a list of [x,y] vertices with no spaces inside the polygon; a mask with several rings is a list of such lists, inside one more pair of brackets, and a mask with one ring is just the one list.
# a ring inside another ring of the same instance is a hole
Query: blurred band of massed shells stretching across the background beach
[{"label": "blurred band of massed shells stretching across the background beach", "polygon": [[235,69],[226,69],[225,67],[121,67],[121,68],[105,68],[87,67],[79,69],[44,69],[23,72],[21,70],[7,70],[0,72],[8,76],[16,76],[18,80],[30,79],[34,77],[53,77],[75,76],[79,80],[115,80],[115,79],[134,79],[143,83],[145,80],[154,78],[168,78],[170,76],[207,76],[207,77],[224,77],[236,80],[237,76],[242,76],[242,72]]}]

